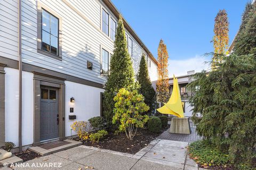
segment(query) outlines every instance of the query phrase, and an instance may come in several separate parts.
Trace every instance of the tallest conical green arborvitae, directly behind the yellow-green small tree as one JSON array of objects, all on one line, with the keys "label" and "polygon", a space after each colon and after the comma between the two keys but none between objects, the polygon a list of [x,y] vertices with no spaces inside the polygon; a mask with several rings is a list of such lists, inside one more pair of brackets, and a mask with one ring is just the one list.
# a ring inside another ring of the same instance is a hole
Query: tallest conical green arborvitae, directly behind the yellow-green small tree
[{"label": "tallest conical green arborvitae, directly behind the yellow-green small tree", "polygon": [[125,29],[122,16],[119,16],[116,29],[114,53],[110,60],[110,74],[106,82],[103,116],[108,122],[112,121],[114,96],[121,88],[130,88],[134,84],[134,72],[131,57],[126,43]]}]

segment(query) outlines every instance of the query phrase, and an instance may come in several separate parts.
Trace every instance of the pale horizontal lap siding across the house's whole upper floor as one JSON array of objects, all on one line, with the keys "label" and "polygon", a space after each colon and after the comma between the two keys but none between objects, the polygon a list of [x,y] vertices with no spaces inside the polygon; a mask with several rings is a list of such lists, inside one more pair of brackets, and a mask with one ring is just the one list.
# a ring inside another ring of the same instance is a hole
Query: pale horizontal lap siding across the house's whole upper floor
[{"label": "pale horizontal lap siding across the house's whole upper floor", "polygon": [[[13,22],[12,30],[15,32],[15,29],[17,29],[15,24],[18,25],[18,3],[17,1],[10,2],[12,3],[9,3],[7,0],[1,1],[1,5],[10,7],[5,10],[9,10],[8,14],[0,13],[0,20],[1,22],[5,20],[8,24]],[[17,6],[15,7],[15,5]],[[60,21],[61,60],[38,53],[37,27],[39,5],[47,12],[52,12],[52,15],[57,16]],[[106,78],[103,77],[100,72],[101,48],[107,50],[109,54],[113,54],[114,41],[101,31],[101,7],[103,6],[101,1],[22,0],[21,6],[22,62],[97,83],[104,83],[106,81]],[[109,12],[108,9],[107,12]],[[109,14],[112,15],[110,12]],[[6,19],[3,18],[3,16]],[[111,17],[117,21],[114,15]],[[1,23],[1,37],[2,34],[4,34],[2,33],[4,31],[4,29],[2,29],[3,27]],[[6,30],[6,32],[7,35],[5,39],[0,39],[0,55],[18,60],[18,33],[11,33],[8,30]],[[129,32],[127,32],[127,34],[132,39],[132,61],[134,71],[137,73],[140,57],[145,51]],[[87,69],[87,61],[93,63],[92,70]],[[153,63],[154,62],[151,61],[151,64]]]}]

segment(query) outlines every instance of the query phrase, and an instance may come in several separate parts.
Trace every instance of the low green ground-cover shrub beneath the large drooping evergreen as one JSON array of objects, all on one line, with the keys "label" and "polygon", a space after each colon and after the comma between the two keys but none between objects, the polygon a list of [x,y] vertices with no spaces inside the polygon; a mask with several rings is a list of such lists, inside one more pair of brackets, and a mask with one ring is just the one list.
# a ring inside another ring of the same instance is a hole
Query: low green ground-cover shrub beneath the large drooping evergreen
[{"label": "low green ground-cover shrub beneath the large drooping evergreen", "polygon": [[228,166],[230,164],[227,151],[217,149],[209,140],[190,143],[188,153],[197,164],[201,164],[205,168],[207,166]]}]

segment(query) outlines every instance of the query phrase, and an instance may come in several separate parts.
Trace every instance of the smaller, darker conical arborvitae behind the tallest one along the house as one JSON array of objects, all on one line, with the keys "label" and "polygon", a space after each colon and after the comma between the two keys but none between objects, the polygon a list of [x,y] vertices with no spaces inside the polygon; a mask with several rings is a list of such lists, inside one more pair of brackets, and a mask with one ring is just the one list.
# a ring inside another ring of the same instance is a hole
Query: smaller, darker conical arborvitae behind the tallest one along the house
[{"label": "smaller, darker conical arborvitae behind the tallest one along the house", "polygon": [[156,108],[156,92],[152,87],[149,78],[145,54],[142,54],[140,60],[140,67],[137,75],[137,80],[140,84],[139,93],[145,97],[144,102],[149,106],[149,113],[154,113]]}]

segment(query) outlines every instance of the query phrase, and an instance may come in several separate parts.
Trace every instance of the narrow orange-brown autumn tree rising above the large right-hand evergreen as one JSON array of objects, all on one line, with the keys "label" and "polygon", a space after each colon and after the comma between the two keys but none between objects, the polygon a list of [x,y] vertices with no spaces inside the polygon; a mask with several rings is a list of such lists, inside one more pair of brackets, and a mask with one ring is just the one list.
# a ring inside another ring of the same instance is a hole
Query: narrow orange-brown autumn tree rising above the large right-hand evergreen
[{"label": "narrow orange-brown autumn tree rising above the large right-hand evergreen", "polygon": [[228,49],[228,31],[229,31],[228,14],[226,10],[220,10],[215,17],[214,24],[214,37],[213,37],[213,47],[214,55],[212,58],[212,67],[215,67],[216,63],[221,63],[223,60],[223,55],[227,54]]}]

